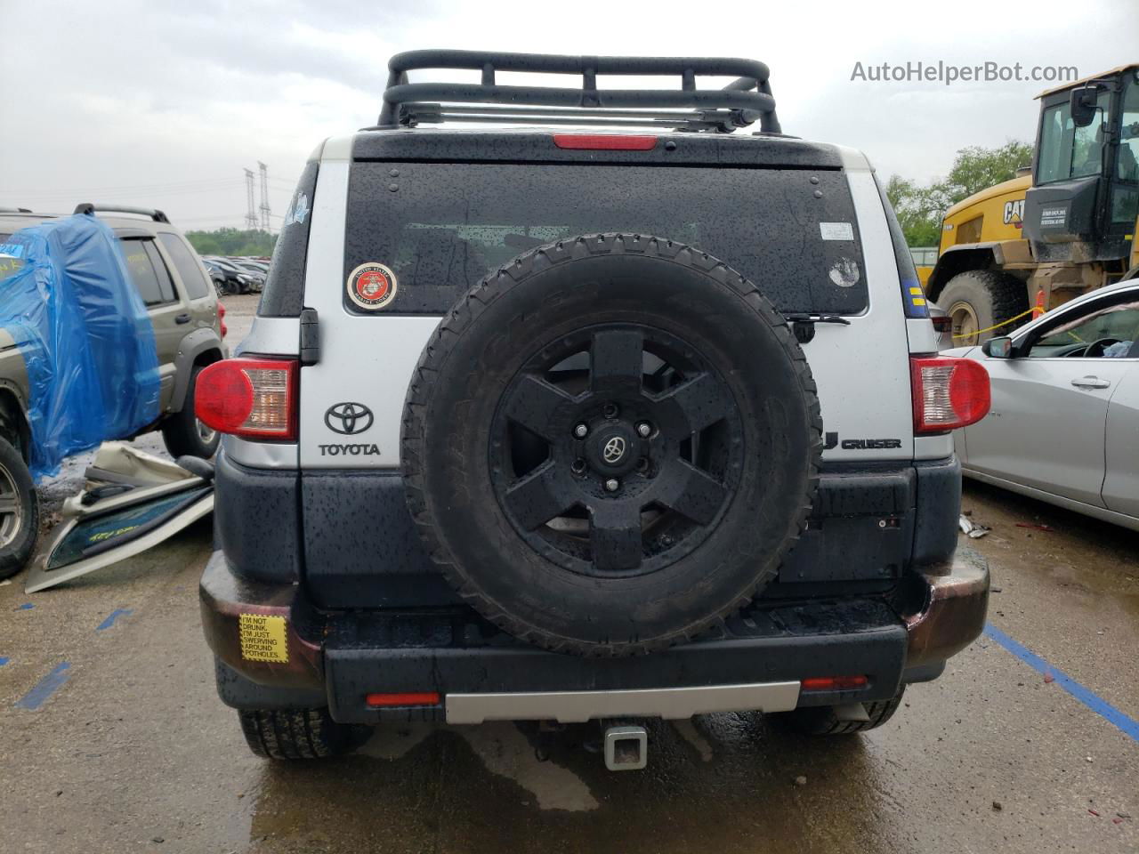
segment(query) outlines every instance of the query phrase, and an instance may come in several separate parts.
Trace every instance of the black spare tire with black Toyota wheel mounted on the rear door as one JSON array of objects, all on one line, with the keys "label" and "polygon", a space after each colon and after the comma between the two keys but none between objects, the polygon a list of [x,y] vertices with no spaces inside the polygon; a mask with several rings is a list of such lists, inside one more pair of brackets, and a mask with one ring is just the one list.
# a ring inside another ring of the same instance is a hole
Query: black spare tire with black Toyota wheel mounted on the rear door
[{"label": "black spare tire with black Toyota wheel mounted on the rear door", "polygon": [[443,318],[404,408],[408,503],[458,592],[518,638],[647,652],[746,603],[817,485],[786,320],[662,238],[543,246]]}]

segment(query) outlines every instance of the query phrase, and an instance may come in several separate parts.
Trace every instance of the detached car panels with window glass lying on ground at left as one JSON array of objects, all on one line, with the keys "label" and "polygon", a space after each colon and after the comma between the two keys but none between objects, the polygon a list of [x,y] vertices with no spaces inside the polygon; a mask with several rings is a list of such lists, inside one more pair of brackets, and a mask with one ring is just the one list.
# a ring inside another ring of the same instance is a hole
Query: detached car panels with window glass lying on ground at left
[{"label": "detached car panels with window glass lying on ground at left", "polygon": [[[25,592],[117,564],[213,512],[211,479],[158,458],[153,459],[162,465],[151,466],[141,459],[149,454],[128,450],[120,465],[104,468],[99,463],[110,460],[97,458],[88,469],[87,487],[64,504],[63,524],[32,561]],[[138,477],[140,466],[144,477]]]}]

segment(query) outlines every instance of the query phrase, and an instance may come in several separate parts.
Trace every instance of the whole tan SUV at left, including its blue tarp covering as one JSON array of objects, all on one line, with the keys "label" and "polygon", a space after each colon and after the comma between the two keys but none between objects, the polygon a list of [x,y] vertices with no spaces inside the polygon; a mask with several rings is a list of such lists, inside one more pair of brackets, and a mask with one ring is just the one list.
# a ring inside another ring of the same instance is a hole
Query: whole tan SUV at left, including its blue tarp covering
[{"label": "whole tan SUV at left, including its blue tarp covering", "polygon": [[[96,214],[99,214],[98,216]],[[32,475],[104,440],[161,429],[208,458],[200,369],[227,355],[224,310],[161,211],[81,204],[69,217],[0,213],[0,576],[35,543]]]}]

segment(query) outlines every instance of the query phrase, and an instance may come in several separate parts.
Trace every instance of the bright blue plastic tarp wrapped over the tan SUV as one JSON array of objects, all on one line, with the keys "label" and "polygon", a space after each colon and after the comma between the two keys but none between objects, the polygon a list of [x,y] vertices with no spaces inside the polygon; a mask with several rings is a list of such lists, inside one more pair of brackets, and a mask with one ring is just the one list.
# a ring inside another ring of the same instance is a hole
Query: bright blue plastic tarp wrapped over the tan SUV
[{"label": "bright blue plastic tarp wrapped over the tan SUV", "polygon": [[114,232],[95,216],[48,220],[0,246],[23,268],[0,280],[0,328],[28,380],[33,477],[158,417],[158,359],[146,305]]}]

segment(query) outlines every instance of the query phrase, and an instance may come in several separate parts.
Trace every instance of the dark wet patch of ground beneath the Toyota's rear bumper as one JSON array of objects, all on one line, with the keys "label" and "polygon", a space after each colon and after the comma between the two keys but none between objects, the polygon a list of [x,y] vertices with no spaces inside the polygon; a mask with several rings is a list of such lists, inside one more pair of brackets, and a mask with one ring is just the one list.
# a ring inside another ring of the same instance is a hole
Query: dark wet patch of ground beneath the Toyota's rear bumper
[{"label": "dark wet patch of ground beneath the Toyota's rear bumper", "polygon": [[[883,839],[891,851],[912,847],[904,815],[883,811],[875,794],[893,775],[861,739],[772,734],[761,715],[746,714],[648,730],[648,767],[614,773],[596,724],[383,728],[343,761],[267,765],[249,849],[743,854],[777,849],[776,840],[842,852]],[[796,786],[800,774],[813,788]]]}]

